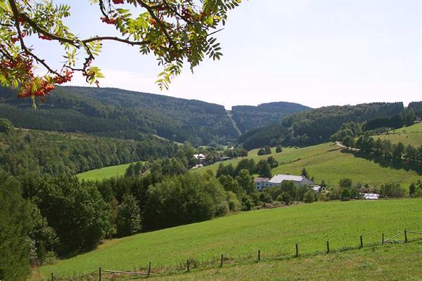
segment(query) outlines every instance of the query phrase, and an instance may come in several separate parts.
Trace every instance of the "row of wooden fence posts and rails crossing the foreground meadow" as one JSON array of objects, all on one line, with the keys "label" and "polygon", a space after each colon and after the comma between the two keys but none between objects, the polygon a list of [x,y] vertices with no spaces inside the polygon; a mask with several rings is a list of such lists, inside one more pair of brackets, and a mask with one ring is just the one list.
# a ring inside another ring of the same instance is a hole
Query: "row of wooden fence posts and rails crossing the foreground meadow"
[{"label": "row of wooden fence posts and rails crossing the foreground meadow", "polygon": [[[384,233],[383,233],[383,238],[382,238],[381,244],[385,244],[386,242],[392,242],[392,240],[394,238],[396,238],[396,237],[398,237],[399,235],[402,235],[402,234],[404,234],[404,241],[402,241],[402,243],[407,243],[408,242],[408,240],[407,240],[407,233],[422,235],[422,231],[421,232],[418,232],[418,231],[404,230],[404,231],[402,231],[400,233],[397,233],[396,235],[388,238],[387,240],[384,240]],[[378,244],[378,242],[375,242],[375,243]],[[373,244],[374,243],[371,243],[370,245],[373,245]],[[360,235],[359,236],[359,247],[355,247],[355,248],[354,247],[352,247],[352,248],[343,248],[343,250],[340,249],[340,251],[349,251],[349,250],[352,250],[352,249],[362,249],[363,247],[364,247],[363,237],[362,237],[362,235]],[[332,252],[335,253],[337,251],[336,250],[330,251],[330,244],[329,244],[329,241],[327,240],[326,241],[326,254],[330,254]],[[258,255],[257,255],[256,262],[260,262],[262,260],[262,256],[261,256],[262,253],[261,253],[261,250],[260,249],[258,250],[258,253],[257,254]],[[314,252],[314,253],[309,253],[309,254],[316,254],[317,255],[317,254],[322,254],[322,253]],[[290,258],[295,259],[295,258],[298,258],[299,256],[300,256],[300,254],[299,254],[299,243],[295,243],[295,254],[293,254],[292,256],[290,256]],[[277,258],[279,256],[271,256],[271,257]],[[223,262],[224,262],[224,256],[221,255],[221,259],[220,259],[220,263],[219,263],[219,267],[220,268],[223,267]],[[191,269],[190,268],[190,260],[187,259],[186,260],[186,272],[189,272],[190,269]],[[74,280],[81,279],[83,277],[87,277],[87,276],[93,275],[94,273],[97,273],[98,274],[98,281],[101,281],[101,277],[102,277],[103,273],[116,273],[116,274],[126,274],[126,275],[143,275],[143,276],[146,276],[146,278],[148,278],[151,275],[151,261],[149,262],[148,272],[133,272],[133,271],[122,271],[122,270],[103,270],[101,268],[98,268],[98,271],[95,270],[95,271],[92,271],[91,273],[86,273],[84,275],[81,275],[81,276],[78,276],[78,277],[74,277],[72,279],[57,278],[57,277],[54,277],[53,276],[53,273],[51,273],[51,281],[55,281],[55,280],[56,281],[57,280],[74,281]]]}]

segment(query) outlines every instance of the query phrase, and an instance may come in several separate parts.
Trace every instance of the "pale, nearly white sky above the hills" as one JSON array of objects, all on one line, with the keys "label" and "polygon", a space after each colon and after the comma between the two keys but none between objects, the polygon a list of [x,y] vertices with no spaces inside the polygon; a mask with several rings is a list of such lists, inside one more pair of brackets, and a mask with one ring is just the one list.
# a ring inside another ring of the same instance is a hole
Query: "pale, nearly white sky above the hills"
[{"label": "pale, nearly white sky above the hills", "polygon": [[[115,34],[88,0],[53,0],[72,6],[67,20],[81,37]],[[103,44],[94,61],[101,86],[204,100],[224,105],[274,101],[310,107],[422,100],[422,0],[249,0],[229,13],[217,34],[222,60],[186,67],[160,91],[155,58],[136,47]],[[53,64],[63,60],[51,42],[34,42]],[[89,86],[75,76],[69,85]]]}]

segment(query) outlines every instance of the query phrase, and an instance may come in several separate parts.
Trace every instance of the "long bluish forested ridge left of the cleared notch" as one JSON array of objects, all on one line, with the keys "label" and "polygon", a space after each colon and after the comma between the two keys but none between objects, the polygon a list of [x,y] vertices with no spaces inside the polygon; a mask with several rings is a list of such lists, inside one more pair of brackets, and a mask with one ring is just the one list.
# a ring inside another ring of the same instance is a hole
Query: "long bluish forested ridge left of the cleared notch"
[{"label": "long bluish forested ridge left of the cleared notch", "polygon": [[110,88],[57,87],[39,104],[0,89],[0,118],[18,127],[136,138],[153,133],[194,145],[234,140],[238,133],[222,105]]}]

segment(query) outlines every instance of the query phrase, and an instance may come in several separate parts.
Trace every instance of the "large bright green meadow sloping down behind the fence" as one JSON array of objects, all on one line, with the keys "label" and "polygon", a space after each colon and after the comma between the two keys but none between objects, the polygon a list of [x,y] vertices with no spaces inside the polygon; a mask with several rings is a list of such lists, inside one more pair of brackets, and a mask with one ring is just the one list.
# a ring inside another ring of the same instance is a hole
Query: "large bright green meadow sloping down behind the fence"
[{"label": "large bright green meadow sloping down behind the fence", "polygon": [[[177,266],[186,259],[228,261],[262,256],[291,256],[380,242],[404,229],[422,230],[422,199],[317,202],[279,209],[248,211],[203,223],[109,240],[95,251],[40,268],[44,276],[87,273],[103,269],[133,270],[152,261],[153,268]],[[267,270],[270,270],[269,268]],[[229,280],[231,278],[228,277]],[[304,280],[307,280],[306,278]]]}]

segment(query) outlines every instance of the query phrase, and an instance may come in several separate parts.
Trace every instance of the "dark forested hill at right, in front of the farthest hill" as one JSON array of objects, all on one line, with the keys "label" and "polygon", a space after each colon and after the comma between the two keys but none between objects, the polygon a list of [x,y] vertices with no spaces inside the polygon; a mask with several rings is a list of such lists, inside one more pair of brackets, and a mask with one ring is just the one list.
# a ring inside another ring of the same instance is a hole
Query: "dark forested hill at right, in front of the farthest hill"
[{"label": "dark forested hill at right, in front of the farthest hill", "polygon": [[262,148],[264,145],[324,143],[343,123],[391,117],[403,110],[401,102],[320,107],[288,115],[277,124],[243,134],[238,141],[248,150]]}]

